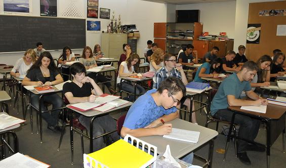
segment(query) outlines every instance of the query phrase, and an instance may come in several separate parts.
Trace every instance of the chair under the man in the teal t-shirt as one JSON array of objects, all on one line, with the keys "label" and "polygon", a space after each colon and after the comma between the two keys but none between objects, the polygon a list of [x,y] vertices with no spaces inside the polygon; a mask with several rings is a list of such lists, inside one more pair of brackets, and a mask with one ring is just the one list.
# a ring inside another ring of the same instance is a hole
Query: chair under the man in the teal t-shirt
[{"label": "chair under the man in the teal t-shirt", "polygon": [[[205,127],[208,128],[208,125],[210,122],[217,122],[217,125],[216,125],[216,131],[218,131],[218,127],[219,127],[219,122],[224,122],[224,123],[227,123],[230,125],[230,129],[229,131],[231,132],[233,130],[233,133],[234,135],[236,135],[236,128],[235,128],[235,125],[234,124],[231,124],[231,122],[229,121],[225,121],[225,120],[222,120],[222,119],[218,119],[218,118],[214,118],[212,115],[211,115],[211,102],[213,101],[213,98],[215,97],[216,93],[217,93],[218,90],[216,89],[213,89],[210,91],[210,100],[209,100],[209,109],[207,111],[207,122],[206,122],[206,125]],[[234,136],[234,148],[235,148],[235,157],[237,157],[237,145],[236,145],[236,136]],[[227,153],[227,147],[225,147],[225,153],[224,153],[224,157],[223,157],[223,161],[225,161],[225,157],[226,157],[226,153]]]}]

